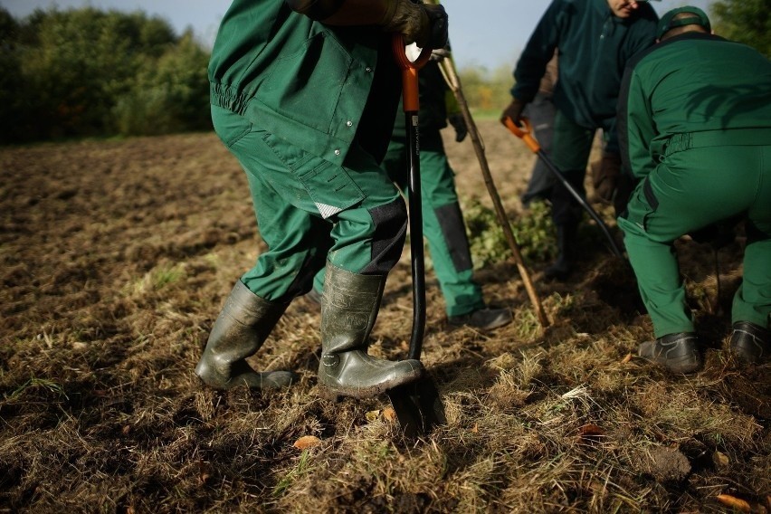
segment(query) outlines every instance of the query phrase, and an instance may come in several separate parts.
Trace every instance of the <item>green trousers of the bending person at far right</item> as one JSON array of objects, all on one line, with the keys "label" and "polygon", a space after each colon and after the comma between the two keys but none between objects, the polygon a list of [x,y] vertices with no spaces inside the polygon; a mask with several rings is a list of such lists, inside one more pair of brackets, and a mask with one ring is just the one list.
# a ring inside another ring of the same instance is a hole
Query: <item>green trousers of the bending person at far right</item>
[{"label": "green trousers of the bending person at far right", "polygon": [[739,214],[747,214],[747,247],[732,322],[766,327],[771,313],[771,146],[720,145],[726,138],[703,135],[671,143],[618,219],[656,338],[694,331],[672,243]]}]

